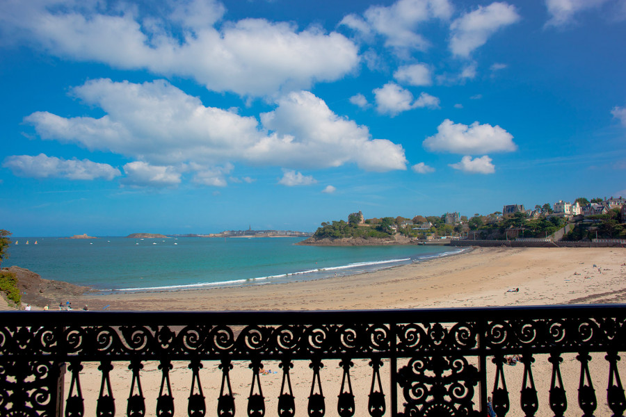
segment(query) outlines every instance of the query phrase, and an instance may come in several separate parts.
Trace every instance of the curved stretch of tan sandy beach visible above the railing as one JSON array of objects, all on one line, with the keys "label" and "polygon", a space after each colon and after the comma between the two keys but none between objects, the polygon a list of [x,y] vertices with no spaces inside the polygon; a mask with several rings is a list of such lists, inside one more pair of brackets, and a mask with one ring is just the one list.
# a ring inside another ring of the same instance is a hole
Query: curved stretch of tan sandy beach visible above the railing
[{"label": "curved stretch of tan sandy beach visible above the railing", "polygon": [[[72,304],[95,310],[110,304],[126,311],[271,311],[626,302],[623,248],[498,247],[462,255],[270,285],[73,296]],[[511,288],[520,291],[507,293]]]}]

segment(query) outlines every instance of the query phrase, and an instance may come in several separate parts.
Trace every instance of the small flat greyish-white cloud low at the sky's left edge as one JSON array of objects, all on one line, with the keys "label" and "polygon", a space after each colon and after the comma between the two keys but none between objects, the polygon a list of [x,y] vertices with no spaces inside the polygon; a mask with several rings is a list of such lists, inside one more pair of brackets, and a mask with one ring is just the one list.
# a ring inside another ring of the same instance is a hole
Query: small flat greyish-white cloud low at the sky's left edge
[{"label": "small flat greyish-white cloud low at the sky's left edge", "polygon": [[111,180],[121,175],[120,170],[106,163],[96,163],[88,159],[67,160],[46,154],[8,156],[2,166],[18,177]]}]

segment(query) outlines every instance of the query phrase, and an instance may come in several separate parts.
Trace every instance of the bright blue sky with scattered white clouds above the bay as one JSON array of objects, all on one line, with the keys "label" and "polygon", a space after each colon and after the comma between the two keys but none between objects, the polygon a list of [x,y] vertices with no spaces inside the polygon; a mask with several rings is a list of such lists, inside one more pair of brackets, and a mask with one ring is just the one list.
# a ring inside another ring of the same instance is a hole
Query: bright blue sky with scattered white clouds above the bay
[{"label": "bright blue sky with scattered white clouds above the bay", "polygon": [[0,228],[626,195],[626,1],[0,0]]}]

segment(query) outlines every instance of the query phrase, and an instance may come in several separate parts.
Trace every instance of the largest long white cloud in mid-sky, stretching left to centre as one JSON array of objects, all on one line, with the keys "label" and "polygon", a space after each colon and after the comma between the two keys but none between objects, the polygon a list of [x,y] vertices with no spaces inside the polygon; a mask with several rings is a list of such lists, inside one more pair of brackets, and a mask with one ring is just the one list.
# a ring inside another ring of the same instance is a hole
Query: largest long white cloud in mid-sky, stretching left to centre
[{"label": "largest long white cloud in mid-sky, stretching left to centre", "polygon": [[226,167],[248,165],[319,169],[355,163],[363,170],[405,170],[401,145],[373,139],[360,126],[333,113],[311,92],[291,92],[275,109],[255,117],[207,107],[167,81],[142,84],[109,79],[72,90],[105,115],[61,117],[46,111],[24,121],[44,140],[74,143],[91,151],[113,152],[155,166],[198,174],[196,183],[223,186]]}]

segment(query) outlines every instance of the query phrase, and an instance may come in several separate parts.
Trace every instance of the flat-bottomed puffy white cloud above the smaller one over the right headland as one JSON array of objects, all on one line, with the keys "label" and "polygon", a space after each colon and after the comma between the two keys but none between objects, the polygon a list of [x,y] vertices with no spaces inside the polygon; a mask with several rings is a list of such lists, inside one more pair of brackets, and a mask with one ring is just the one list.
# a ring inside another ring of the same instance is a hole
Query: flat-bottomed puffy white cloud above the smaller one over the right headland
[{"label": "flat-bottomed puffy white cloud above the smaller one over the right headland", "polygon": [[450,152],[452,154],[484,154],[486,152],[513,152],[517,145],[513,135],[500,126],[454,123],[446,119],[437,128],[435,136],[429,136],[422,143],[433,152]]}]

